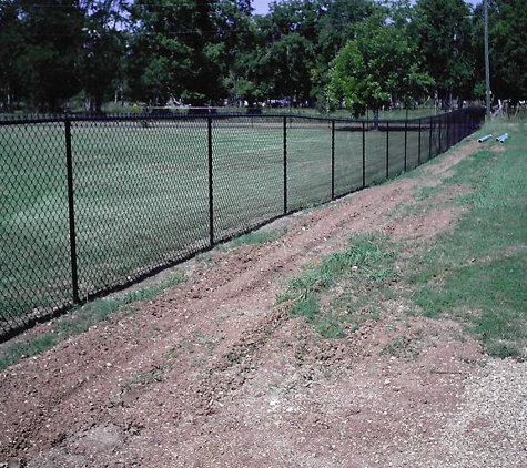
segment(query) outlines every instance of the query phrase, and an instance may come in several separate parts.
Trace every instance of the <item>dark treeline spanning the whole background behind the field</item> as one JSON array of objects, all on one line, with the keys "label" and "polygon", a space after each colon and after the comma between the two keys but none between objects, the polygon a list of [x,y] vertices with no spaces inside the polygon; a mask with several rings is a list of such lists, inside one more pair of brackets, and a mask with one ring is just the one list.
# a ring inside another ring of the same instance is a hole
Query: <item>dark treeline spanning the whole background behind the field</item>
[{"label": "dark treeline spanning the whole background behind the field", "polygon": [[[489,0],[495,98],[527,96],[525,24],[527,0]],[[361,64],[363,74],[346,74]],[[352,101],[369,93],[365,105],[483,99],[483,6],[281,0],[262,17],[250,0],[0,0],[3,112],[170,99],[327,110],[346,85]]]}]

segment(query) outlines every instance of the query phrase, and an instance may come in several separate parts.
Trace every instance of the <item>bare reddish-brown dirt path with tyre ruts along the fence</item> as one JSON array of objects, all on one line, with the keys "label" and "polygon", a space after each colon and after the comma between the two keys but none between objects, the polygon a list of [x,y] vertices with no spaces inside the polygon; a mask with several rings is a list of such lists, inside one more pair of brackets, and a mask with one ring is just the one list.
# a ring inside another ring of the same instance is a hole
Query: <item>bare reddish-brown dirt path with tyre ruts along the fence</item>
[{"label": "bare reddish-brown dirt path with tyre ruts along the fence", "polygon": [[[12,366],[0,375],[0,466],[527,467],[519,438],[489,446],[506,420],[470,406],[467,388],[489,374],[459,325],[411,318],[394,302],[379,321],[326,340],[276,306],[288,277],[355,233],[419,243],[452,228],[457,208],[394,210],[417,204],[419,187],[474,151],[465,144],[419,177],[281,220],[287,234],[276,242],[190,262],[185,282],[135,314]],[[379,354],[403,333],[419,342],[417,358]],[[524,385],[520,364],[495,365]]]}]

